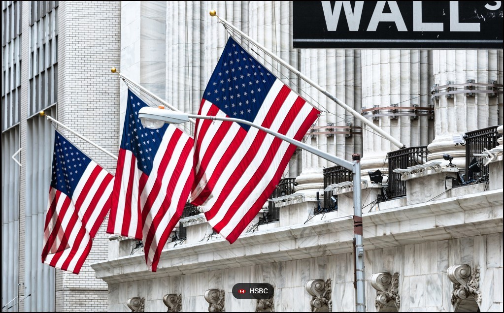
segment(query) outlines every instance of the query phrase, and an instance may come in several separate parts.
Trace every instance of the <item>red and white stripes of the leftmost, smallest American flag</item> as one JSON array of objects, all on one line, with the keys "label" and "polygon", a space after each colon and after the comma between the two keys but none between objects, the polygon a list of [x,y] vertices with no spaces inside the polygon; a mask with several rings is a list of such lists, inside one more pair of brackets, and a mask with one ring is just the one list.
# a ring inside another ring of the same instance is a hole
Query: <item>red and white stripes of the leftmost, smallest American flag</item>
[{"label": "red and white stripes of the leftmost, smallest American flag", "polygon": [[42,262],[79,274],[96,232],[110,209],[113,176],[91,161],[73,199],[49,190]]}]

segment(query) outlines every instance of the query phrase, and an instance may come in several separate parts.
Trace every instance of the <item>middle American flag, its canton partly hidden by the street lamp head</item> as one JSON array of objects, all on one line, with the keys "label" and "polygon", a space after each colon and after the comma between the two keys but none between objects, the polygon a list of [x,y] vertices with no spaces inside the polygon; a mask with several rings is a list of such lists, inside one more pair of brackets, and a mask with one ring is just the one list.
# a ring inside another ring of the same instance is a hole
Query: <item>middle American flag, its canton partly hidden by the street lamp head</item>
[{"label": "middle American flag, its canton partly hidden by the street lamp head", "polygon": [[155,272],[191,193],[194,140],[174,125],[143,127],[138,112],[146,106],[128,90],[107,232],[143,240]]}]

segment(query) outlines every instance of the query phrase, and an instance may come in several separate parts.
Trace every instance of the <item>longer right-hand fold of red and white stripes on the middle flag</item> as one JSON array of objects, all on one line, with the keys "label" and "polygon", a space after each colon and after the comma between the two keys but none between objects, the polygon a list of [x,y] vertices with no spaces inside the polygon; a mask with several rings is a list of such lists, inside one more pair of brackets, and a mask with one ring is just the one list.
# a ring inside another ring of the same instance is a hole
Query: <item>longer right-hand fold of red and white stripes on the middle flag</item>
[{"label": "longer right-hand fold of red and white stripes on the middle flag", "polygon": [[191,193],[193,147],[192,137],[174,126],[168,127],[154,158],[151,175],[143,174],[141,179],[145,259],[153,272]]}]

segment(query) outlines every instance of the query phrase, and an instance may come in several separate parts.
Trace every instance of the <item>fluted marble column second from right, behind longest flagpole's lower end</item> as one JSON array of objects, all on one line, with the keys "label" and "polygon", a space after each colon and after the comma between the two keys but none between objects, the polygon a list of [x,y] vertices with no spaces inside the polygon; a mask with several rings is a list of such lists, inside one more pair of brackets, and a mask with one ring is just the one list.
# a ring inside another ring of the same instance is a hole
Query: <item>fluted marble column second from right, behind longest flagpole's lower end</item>
[{"label": "fluted marble column second from right, behind longest flagpole's lower end", "polygon": [[[399,107],[430,102],[429,51],[426,50],[362,50],[362,107]],[[386,113],[386,112],[381,112]],[[410,116],[392,118],[381,116],[373,121],[407,147],[427,145],[433,138],[433,121],[429,117],[411,119]],[[364,127],[361,173],[380,169],[388,171],[387,153],[398,147]]]}]

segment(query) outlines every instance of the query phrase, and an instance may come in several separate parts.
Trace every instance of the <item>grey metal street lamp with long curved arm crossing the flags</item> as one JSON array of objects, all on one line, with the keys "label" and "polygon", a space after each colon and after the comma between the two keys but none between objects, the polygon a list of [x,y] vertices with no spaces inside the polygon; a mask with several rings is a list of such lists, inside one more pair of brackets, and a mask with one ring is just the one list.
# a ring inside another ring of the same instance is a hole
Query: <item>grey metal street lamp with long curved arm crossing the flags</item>
[{"label": "grey metal street lamp with long curved arm crossing the flags", "polygon": [[183,112],[175,112],[171,110],[157,109],[151,107],[143,107],[142,109],[140,109],[138,117],[141,119],[142,124],[145,127],[153,129],[162,127],[164,123],[179,124],[188,122],[190,118],[241,123],[267,132],[301,149],[304,149],[308,152],[318,155],[321,158],[331,161],[332,163],[340,165],[345,169],[351,170],[353,176],[353,203],[354,203],[353,230],[354,230],[354,247],[355,247],[354,252],[355,252],[355,284],[356,284],[355,310],[357,312],[365,311],[364,246],[362,243],[362,209],[361,209],[361,189],[360,189],[360,154],[353,154],[353,162],[349,162],[344,159],[338,158],[337,156],[329,154],[326,151],[319,150],[306,143],[294,140],[293,138],[282,135],[281,133],[278,133],[271,129],[265,128],[261,125],[257,125],[247,120],[242,120],[239,118],[187,114]]}]

